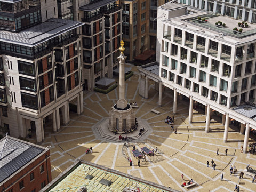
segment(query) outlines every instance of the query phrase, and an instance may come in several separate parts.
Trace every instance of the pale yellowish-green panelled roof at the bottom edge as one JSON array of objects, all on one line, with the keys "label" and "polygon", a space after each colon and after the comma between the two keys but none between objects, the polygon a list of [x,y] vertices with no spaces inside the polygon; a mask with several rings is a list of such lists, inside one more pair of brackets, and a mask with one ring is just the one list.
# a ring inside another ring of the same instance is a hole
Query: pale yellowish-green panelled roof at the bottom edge
[{"label": "pale yellowish-green panelled roof at the bottom edge", "polygon": [[52,180],[43,191],[78,191],[86,187],[87,191],[127,191],[165,192],[177,191],[156,183],[145,181],[131,175],[97,165],[91,162],[79,161],[71,165],[57,178]]}]

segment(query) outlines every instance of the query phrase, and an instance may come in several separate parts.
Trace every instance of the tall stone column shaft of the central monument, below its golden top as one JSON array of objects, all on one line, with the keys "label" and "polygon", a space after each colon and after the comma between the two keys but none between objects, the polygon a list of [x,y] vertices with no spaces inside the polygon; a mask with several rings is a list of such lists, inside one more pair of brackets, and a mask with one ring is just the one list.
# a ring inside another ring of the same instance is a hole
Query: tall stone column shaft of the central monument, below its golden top
[{"label": "tall stone column shaft of the central monument, below its golden top", "polygon": [[119,61],[119,99],[116,103],[117,108],[124,109],[127,107],[127,100],[125,99],[125,83],[124,83],[124,62],[126,56],[121,51],[120,56],[117,58]]}]

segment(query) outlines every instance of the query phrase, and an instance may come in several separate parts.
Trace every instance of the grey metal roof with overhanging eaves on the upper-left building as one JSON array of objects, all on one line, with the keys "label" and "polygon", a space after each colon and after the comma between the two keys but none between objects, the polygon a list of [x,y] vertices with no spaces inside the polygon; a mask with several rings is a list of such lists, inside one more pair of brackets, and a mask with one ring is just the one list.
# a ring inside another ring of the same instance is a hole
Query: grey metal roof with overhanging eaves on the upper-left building
[{"label": "grey metal roof with overhanging eaves on the upper-left building", "polygon": [[82,25],[78,21],[51,18],[19,33],[1,30],[0,41],[33,47]]}]

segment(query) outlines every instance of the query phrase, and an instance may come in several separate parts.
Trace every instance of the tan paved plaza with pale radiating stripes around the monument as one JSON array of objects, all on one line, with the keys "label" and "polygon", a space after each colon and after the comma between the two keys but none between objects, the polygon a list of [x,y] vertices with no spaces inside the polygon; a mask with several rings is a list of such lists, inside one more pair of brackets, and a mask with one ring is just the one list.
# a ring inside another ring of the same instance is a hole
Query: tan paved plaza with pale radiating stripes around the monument
[{"label": "tan paved plaza with pale radiating stripes around the monument", "polygon": [[[233,191],[235,185],[240,182],[240,191],[256,191],[256,184],[252,183],[252,177],[244,175],[239,181],[239,175],[230,175],[230,165],[235,165],[238,170],[243,170],[248,164],[256,169],[256,155],[242,154],[244,135],[234,127],[229,128],[228,142],[223,143],[224,126],[220,119],[212,119],[210,132],[205,132],[204,111],[194,109],[193,123],[188,123],[189,102],[178,100],[177,114],[174,115],[174,129],[164,123],[167,115],[173,116],[173,92],[164,89],[162,107],[158,107],[158,92],[154,90],[154,82],[149,84],[149,98],[143,99],[139,96],[139,73],[137,67],[132,67],[134,75],[125,82],[126,99],[137,102],[138,109],[134,109],[137,118],[145,119],[153,129],[145,142],[137,142],[138,148],[154,146],[163,154],[147,156],[147,162],[138,164],[138,159],[132,157],[132,146],[124,147],[124,142],[111,142],[101,140],[92,126],[108,117],[111,106],[118,100],[118,88],[108,94],[98,92],[84,93],[83,115],[77,116],[70,112],[70,122],[67,126],[61,126],[58,133],[45,131],[43,146],[51,146],[52,178],[54,179],[77,159],[83,159],[92,163],[100,164],[111,169],[131,174],[141,179],[149,180],[160,185],[171,187],[179,191],[188,189],[181,187],[181,173],[185,180],[193,179],[199,185],[189,191]],[[118,79],[117,79],[118,81]],[[151,109],[160,111],[159,115],[151,112]],[[146,127],[145,127],[146,128]],[[125,135],[124,135],[125,136]],[[35,142],[35,140],[32,140]],[[249,143],[254,142],[249,139]],[[133,143],[132,143],[133,145]],[[93,153],[86,154],[85,151],[93,147]],[[219,154],[216,155],[217,148]],[[225,155],[225,149],[228,155]],[[127,149],[127,150],[126,150]],[[124,151],[125,150],[125,151]],[[132,157],[133,166],[125,156]],[[217,164],[213,170],[211,161]],[[210,167],[206,167],[206,162]],[[221,173],[224,174],[221,181]]]}]

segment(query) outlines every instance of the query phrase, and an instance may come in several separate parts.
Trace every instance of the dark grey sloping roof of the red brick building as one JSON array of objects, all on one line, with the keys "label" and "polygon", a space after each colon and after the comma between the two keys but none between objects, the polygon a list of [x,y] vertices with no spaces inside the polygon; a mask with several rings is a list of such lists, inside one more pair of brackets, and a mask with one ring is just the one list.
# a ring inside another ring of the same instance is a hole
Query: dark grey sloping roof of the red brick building
[{"label": "dark grey sloping roof of the red brick building", "polygon": [[0,140],[0,183],[18,171],[45,148],[13,137],[4,137]]}]

